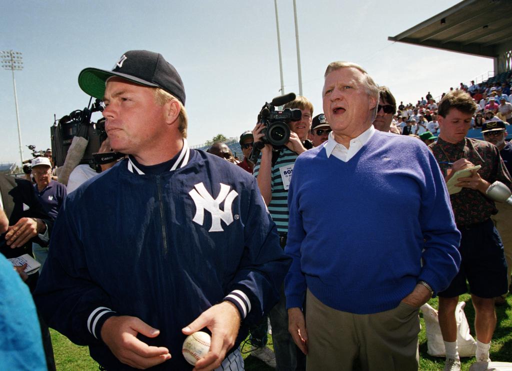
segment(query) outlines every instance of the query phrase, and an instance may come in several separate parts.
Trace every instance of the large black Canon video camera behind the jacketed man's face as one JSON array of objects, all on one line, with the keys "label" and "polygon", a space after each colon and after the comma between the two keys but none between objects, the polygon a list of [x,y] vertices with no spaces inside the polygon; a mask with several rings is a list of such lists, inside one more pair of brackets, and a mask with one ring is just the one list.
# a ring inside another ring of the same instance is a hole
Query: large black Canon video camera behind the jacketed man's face
[{"label": "large black Canon video camera behind the jacketed man's face", "polygon": [[52,157],[56,166],[62,166],[68,155],[68,150],[75,136],[80,136],[88,140],[86,150],[80,160],[80,164],[89,164],[95,168],[93,153],[98,152],[103,140],[106,139],[104,118],[97,122],[91,121],[94,112],[103,111],[103,102],[96,99],[91,107],[92,98],[89,100],[89,106],[83,110],[75,110],[68,115],[55,120],[50,127],[52,140]]}]

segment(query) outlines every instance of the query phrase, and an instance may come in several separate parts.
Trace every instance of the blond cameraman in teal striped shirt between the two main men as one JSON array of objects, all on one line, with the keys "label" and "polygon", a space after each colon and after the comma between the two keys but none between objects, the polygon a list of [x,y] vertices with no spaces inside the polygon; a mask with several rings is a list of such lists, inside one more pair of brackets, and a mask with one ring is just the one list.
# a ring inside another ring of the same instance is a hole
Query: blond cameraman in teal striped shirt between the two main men
[{"label": "blond cameraman in teal striped shirt between the two main men", "polygon": [[[284,108],[300,109],[302,112],[301,120],[290,122],[290,140],[286,143],[285,148],[279,150],[279,155],[275,160],[276,155],[273,155],[272,152],[278,151],[273,149],[271,145],[266,144],[261,149],[261,155],[254,166],[254,176],[258,180],[258,187],[273,221],[278,226],[282,248],[286,245],[286,235],[288,233],[288,204],[286,201],[288,199],[290,175],[297,156],[312,148],[311,142],[306,141],[306,138],[311,127],[313,105],[307,98],[299,96],[287,103]],[[258,123],[252,130],[255,142],[260,141],[264,136],[262,134],[264,128],[264,124]],[[288,332],[288,313],[283,287],[279,303],[270,311],[270,324],[272,326],[272,341],[277,369],[305,368],[302,352],[298,351]],[[297,356],[301,357],[300,361],[297,360]]]}]

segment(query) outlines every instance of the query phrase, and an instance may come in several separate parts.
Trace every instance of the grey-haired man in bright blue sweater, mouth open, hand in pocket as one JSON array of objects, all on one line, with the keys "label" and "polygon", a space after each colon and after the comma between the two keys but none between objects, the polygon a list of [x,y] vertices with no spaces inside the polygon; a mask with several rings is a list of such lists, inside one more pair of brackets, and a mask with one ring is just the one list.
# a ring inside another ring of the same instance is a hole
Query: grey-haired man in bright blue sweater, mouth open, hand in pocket
[{"label": "grey-haired man in bright blue sweater, mouth open, hand in pocket", "polygon": [[365,70],[331,63],[323,102],[332,133],[295,161],[285,291],[309,370],[352,370],[356,359],[362,369],[417,369],[418,308],[459,267],[460,233],[436,160],[414,138],[375,130],[378,101]]}]

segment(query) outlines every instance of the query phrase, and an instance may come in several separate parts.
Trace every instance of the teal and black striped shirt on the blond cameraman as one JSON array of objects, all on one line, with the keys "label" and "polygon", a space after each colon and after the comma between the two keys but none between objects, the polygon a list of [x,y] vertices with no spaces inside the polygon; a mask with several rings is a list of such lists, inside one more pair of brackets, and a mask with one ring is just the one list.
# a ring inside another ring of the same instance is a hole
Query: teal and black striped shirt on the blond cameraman
[{"label": "teal and black striped shirt on the blond cameraman", "polygon": [[[281,168],[293,166],[297,159],[297,154],[288,148],[282,149],[278,160],[272,167],[272,179],[270,190],[272,191],[272,200],[268,205],[268,211],[279,232],[288,232],[288,190],[283,185]],[[260,172],[261,154],[254,166],[254,176],[258,177]]]}]

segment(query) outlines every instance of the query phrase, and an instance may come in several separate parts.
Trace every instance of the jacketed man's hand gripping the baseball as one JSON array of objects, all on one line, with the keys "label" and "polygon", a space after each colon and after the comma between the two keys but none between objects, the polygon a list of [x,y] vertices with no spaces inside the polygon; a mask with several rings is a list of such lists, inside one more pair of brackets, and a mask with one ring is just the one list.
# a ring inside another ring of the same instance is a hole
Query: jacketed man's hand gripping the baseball
[{"label": "jacketed man's hand gripping the baseball", "polygon": [[207,327],[211,332],[208,354],[196,363],[195,371],[209,371],[219,367],[234,345],[240,328],[240,312],[234,304],[224,301],[204,311],[194,322],[183,328],[190,335]]}]

